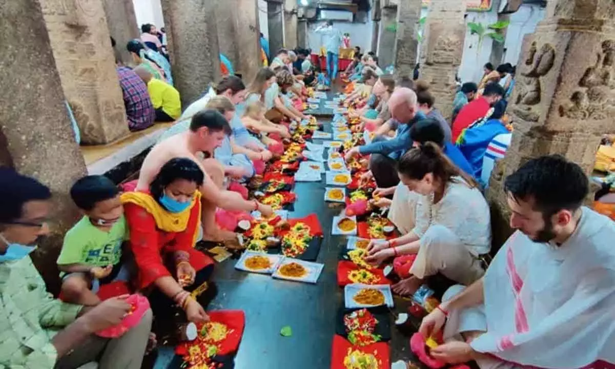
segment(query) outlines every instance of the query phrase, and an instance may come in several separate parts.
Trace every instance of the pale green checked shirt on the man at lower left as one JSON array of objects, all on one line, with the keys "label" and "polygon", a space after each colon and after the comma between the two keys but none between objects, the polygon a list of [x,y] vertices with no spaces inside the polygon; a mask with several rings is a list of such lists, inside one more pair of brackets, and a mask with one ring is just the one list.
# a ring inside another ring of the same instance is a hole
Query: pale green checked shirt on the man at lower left
[{"label": "pale green checked shirt on the man at lower left", "polygon": [[0,263],[0,368],[53,368],[51,339],[81,308],[47,293],[30,256]]}]

